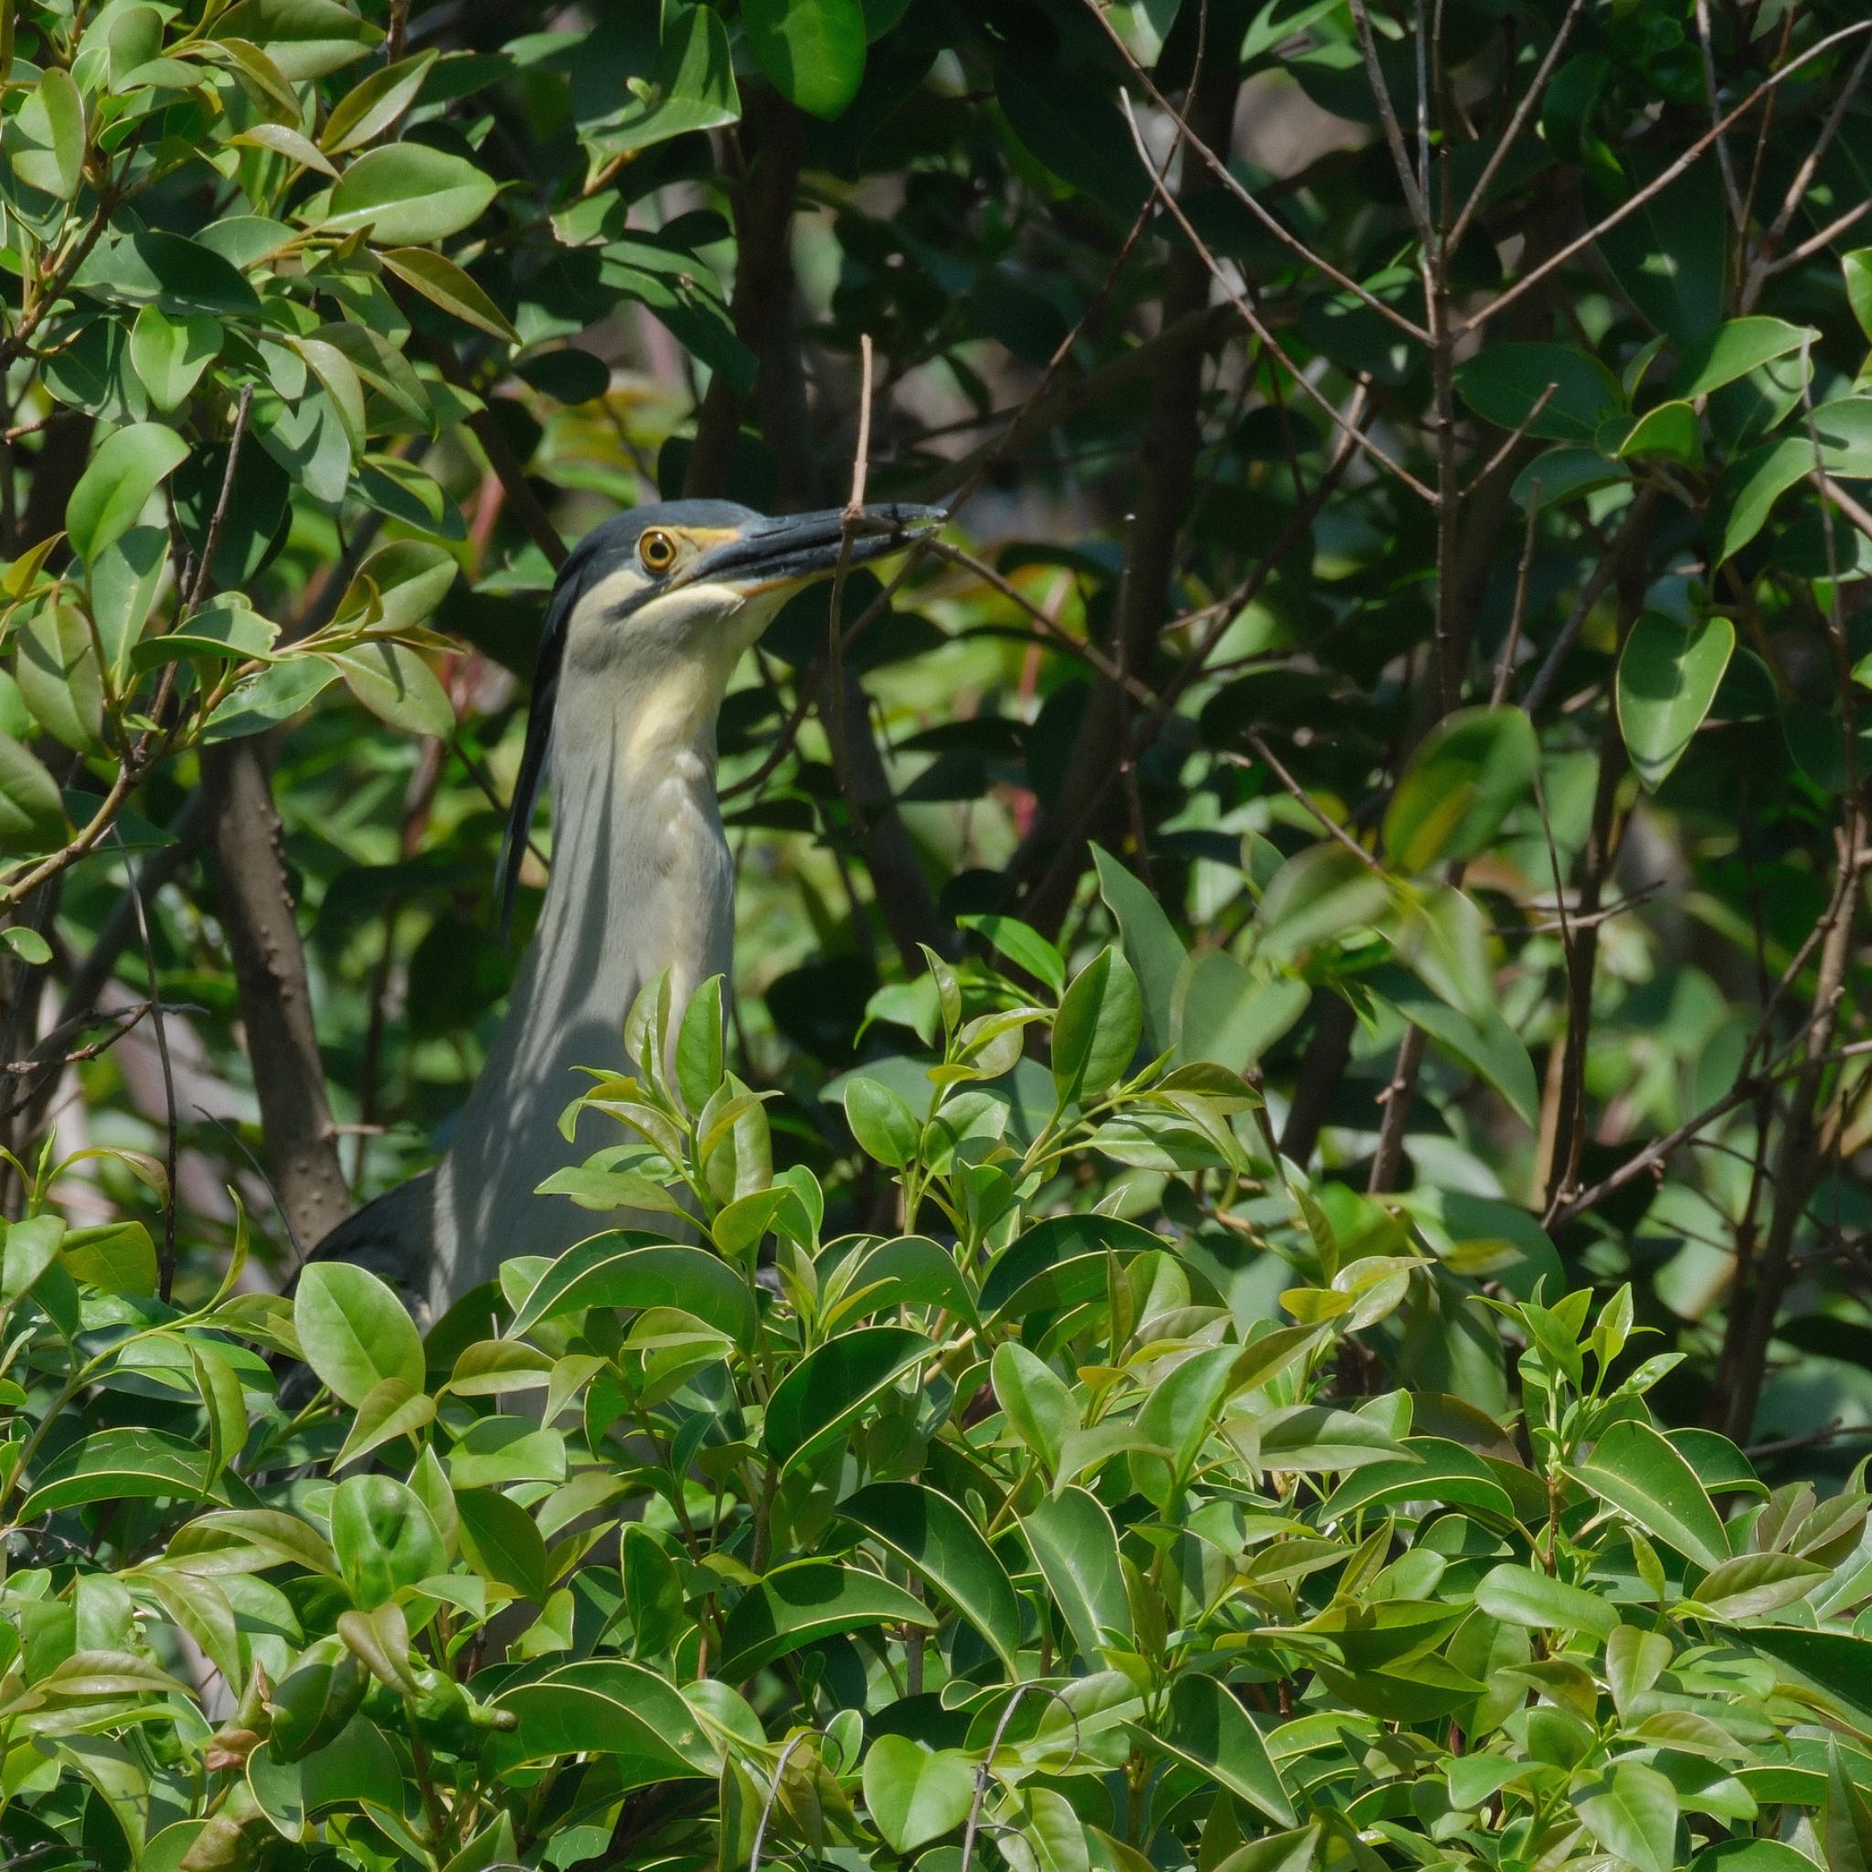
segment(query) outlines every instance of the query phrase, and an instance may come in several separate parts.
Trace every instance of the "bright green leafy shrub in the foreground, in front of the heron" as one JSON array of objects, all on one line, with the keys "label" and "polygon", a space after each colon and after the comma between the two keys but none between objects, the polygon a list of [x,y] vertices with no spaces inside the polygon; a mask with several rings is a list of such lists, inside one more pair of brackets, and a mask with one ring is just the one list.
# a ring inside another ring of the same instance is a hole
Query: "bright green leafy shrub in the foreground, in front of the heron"
[{"label": "bright green leafy shrub in the foreground, in front of the heron", "polygon": [[[1252,1086],[1134,1071],[1119,949],[1067,983],[981,929],[1028,987],[932,958],[927,1009],[887,990],[932,1058],[842,1088],[863,1234],[663,985],[558,1200],[681,1226],[509,1260],[427,1342],[335,1264],[163,1305],[43,1163],[0,1275],[13,1863],[1865,1865],[1863,1481],[1659,1430],[1629,1288],[1593,1318],[1531,1245],[1310,1189]],[[1191,1224],[1080,1207],[1091,1151]],[[1237,1325],[1215,1230],[1292,1324]],[[1518,1425],[1372,1389],[1434,1320],[1518,1352]]]}]

